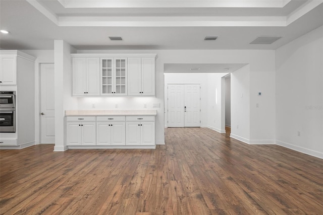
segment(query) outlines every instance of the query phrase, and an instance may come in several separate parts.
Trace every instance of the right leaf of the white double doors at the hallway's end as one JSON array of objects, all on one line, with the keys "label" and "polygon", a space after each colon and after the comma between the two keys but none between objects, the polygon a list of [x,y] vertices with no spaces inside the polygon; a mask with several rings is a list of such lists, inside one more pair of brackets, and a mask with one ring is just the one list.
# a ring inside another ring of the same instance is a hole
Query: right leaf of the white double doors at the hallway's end
[{"label": "right leaf of the white double doors at the hallway's end", "polygon": [[184,127],[200,127],[200,85],[184,85]]}]

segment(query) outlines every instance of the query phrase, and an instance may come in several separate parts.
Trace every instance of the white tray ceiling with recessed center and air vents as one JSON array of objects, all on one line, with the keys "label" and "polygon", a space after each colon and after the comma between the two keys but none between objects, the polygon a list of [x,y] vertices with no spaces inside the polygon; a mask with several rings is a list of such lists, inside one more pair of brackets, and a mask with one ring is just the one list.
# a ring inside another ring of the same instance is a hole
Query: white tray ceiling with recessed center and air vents
[{"label": "white tray ceiling with recessed center and air vents", "polygon": [[[323,25],[321,0],[0,0],[1,49],[277,49]],[[123,41],[111,41],[121,36]],[[204,41],[205,36],[218,36]],[[283,36],[249,44],[258,36]]]}]

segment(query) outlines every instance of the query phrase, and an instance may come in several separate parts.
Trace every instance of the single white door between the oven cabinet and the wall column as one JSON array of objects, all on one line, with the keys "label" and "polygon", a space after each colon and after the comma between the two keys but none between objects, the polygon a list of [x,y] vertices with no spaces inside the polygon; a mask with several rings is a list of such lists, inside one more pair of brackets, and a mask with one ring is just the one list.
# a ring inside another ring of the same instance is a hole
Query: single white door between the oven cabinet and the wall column
[{"label": "single white door between the oven cabinet and the wall column", "polygon": [[40,65],[40,143],[55,143],[54,64]]}]

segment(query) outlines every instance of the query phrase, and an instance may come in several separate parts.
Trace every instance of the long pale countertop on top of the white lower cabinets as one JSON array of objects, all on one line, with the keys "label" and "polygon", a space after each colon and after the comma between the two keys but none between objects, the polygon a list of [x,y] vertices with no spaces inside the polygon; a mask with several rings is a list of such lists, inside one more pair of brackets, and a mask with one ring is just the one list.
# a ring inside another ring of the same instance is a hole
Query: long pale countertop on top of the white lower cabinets
[{"label": "long pale countertop on top of the white lower cabinets", "polygon": [[65,111],[65,116],[156,116],[156,110],[74,110]]}]

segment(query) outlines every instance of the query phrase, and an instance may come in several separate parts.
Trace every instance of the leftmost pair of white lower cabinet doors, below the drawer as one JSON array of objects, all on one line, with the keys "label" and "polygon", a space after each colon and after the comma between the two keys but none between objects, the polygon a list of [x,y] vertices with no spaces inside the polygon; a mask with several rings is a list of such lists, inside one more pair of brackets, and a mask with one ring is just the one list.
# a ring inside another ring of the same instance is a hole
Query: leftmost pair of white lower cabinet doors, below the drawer
[{"label": "leftmost pair of white lower cabinet doors, below the drawer", "polygon": [[67,122],[67,145],[95,145],[95,122]]}]

